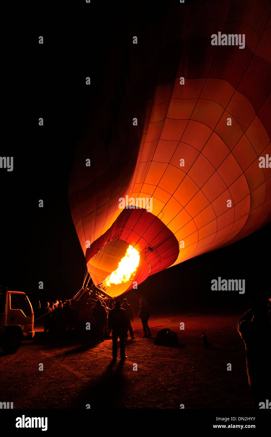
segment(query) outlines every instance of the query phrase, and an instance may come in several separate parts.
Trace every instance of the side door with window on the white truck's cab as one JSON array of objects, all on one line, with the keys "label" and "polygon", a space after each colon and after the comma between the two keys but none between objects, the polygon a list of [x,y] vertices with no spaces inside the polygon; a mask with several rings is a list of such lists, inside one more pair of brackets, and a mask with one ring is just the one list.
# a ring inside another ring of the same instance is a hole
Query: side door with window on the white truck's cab
[{"label": "side door with window on the white truck's cab", "polygon": [[24,335],[33,329],[33,309],[24,293],[9,293],[10,305],[7,315],[7,326],[20,325]]}]

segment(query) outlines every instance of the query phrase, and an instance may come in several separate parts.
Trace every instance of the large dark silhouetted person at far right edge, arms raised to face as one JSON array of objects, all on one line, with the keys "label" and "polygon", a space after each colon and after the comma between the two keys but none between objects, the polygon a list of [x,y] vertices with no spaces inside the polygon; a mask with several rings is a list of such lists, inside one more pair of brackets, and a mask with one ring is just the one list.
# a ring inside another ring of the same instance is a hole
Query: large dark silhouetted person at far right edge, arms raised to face
[{"label": "large dark silhouetted person at far right edge, arms raised to face", "polygon": [[268,301],[260,296],[252,302],[251,309],[237,322],[237,330],[245,343],[248,384],[255,407],[271,399],[271,319]]}]

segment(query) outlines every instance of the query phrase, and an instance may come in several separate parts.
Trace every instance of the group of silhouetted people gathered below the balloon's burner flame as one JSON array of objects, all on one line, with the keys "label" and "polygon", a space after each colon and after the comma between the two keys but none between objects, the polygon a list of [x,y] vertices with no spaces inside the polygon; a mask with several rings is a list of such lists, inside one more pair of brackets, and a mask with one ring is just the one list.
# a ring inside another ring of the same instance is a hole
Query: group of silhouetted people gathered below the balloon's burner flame
[{"label": "group of silhouetted people gathered below the balloon's burner flame", "polygon": [[[121,304],[120,300],[110,299],[102,302],[100,299],[81,301],[79,309],[75,309],[71,301],[47,302],[44,307],[44,332],[57,335],[76,331],[85,339],[100,343],[105,338],[112,338],[112,361],[116,361],[119,339],[120,357],[125,360],[125,340],[128,332],[134,339],[132,323],[134,321],[132,307],[126,298]],[[139,317],[142,322],[144,338],[151,336],[149,329],[149,305],[145,298],[140,301]],[[107,306],[107,305],[108,306]]]}]

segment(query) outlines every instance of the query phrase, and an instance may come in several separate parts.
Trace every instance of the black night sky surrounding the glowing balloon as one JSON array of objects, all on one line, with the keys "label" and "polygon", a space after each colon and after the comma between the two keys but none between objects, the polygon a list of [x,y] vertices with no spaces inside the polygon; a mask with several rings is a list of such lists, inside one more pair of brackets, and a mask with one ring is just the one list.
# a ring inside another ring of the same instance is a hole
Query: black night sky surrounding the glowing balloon
[{"label": "black night sky surrounding the glowing balloon", "polygon": [[[1,156],[14,156],[14,170],[0,170],[0,284],[27,292],[34,306],[71,298],[82,286],[85,259],[68,205],[76,141],[89,111],[98,101],[102,108],[103,80],[114,77],[114,59],[127,56],[132,36],[144,40],[150,28],[159,52],[164,14],[178,1],[92,2],[89,11],[84,1],[38,3],[34,21],[25,10],[20,38],[12,29],[6,35]],[[146,52],[136,49],[144,62]],[[242,312],[251,296],[270,293],[270,229],[151,276],[128,296],[135,302],[145,295],[154,311]],[[245,279],[245,294],[211,291],[219,276]]]}]

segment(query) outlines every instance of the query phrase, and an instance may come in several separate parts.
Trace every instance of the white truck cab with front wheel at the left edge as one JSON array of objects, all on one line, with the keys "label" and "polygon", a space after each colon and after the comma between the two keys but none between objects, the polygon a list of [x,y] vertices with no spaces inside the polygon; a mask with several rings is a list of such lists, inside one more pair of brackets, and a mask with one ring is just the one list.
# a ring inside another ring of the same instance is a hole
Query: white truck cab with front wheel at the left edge
[{"label": "white truck cab with front wheel at the left edge", "polygon": [[0,288],[0,346],[14,354],[24,337],[34,337],[34,312],[27,295]]}]

